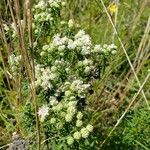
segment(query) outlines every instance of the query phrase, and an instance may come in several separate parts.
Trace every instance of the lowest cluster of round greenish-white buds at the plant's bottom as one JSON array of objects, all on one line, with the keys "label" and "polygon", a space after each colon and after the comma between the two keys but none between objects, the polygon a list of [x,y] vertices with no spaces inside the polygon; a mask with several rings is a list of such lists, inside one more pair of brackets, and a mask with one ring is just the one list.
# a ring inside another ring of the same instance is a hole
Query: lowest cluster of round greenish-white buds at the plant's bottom
[{"label": "lowest cluster of round greenish-white buds at the plant's bottom", "polygon": [[64,127],[66,125],[72,126],[71,124],[75,123],[74,129],[76,129],[77,131],[71,133],[67,137],[67,144],[72,145],[74,143],[74,140],[88,138],[90,133],[93,131],[93,126],[91,124],[87,124],[86,126],[84,126],[83,113],[81,111],[78,111],[76,108],[77,101],[62,100],[61,102],[58,102],[55,97],[50,97],[50,100],[51,108],[49,108],[49,110],[52,114],[50,125],[53,126],[53,129],[55,128],[57,131],[64,130]]}]

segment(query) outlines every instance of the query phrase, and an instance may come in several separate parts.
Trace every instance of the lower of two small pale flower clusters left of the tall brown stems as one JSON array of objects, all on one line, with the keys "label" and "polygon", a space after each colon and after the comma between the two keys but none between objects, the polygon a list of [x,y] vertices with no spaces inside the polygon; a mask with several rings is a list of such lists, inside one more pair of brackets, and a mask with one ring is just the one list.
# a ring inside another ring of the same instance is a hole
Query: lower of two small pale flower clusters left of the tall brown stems
[{"label": "lower of two small pale flower clusters left of the tall brown stems", "polygon": [[19,73],[19,63],[21,61],[21,55],[15,56],[14,54],[8,57],[8,63],[11,69],[11,73],[15,76]]}]

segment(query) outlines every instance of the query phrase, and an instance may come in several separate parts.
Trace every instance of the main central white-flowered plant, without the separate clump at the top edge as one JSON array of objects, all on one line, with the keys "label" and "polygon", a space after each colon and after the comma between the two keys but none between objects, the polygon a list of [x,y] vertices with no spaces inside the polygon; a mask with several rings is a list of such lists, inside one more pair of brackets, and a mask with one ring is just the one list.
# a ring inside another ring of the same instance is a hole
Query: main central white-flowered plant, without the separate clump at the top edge
[{"label": "main central white-flowered plant, without the separate clump at the top edge", "polygon": [[[77,143],[80,147],[79,143],[93,132],[90,118],[84,117],[86,97],[103,67],[99,59],[115,51],[113,44],[93,45],[83,30],[74,36],[56,34],[43,45],[42,64],[36,62],[35,66],[35,85],[49,92],[46,111],[41,115],[44,118],[40,117],[47,137],[55,137],[55,145],[64,146],[66,141],[67,147],[74,148]],[[53,143],[54,139],[49,141]]]}]

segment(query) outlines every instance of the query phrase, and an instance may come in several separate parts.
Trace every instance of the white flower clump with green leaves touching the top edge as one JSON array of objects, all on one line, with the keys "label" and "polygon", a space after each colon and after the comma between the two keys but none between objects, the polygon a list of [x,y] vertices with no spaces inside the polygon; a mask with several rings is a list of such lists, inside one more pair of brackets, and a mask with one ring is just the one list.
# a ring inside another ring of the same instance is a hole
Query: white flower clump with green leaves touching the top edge
[{"label": "white flower clump with green leaves touching the top edge", "polygon": [[[60,11],[65,2],[62,0],[38,0],[33,6],[33,31],[35,36],[54,34],[60,24]],[[43,30],[44,29],[44,30]],[[50,31],[50,32],[49,32]],[[43,37],[43,36],[40,36]]]}]

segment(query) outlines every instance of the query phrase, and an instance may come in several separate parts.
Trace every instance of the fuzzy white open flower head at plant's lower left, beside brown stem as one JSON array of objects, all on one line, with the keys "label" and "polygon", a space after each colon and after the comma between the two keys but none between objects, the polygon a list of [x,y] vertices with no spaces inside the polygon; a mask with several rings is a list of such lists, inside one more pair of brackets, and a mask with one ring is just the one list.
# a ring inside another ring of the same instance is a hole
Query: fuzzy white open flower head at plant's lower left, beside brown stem
[{"label": "fuzzy white open flower head at plant's lower left, beside brown stem", "polygon": [[39,108],[38,115],[40,117],[40,121],[43,122],[45,117],[49,115],[49,107],[47,105],[43,105]]}]

